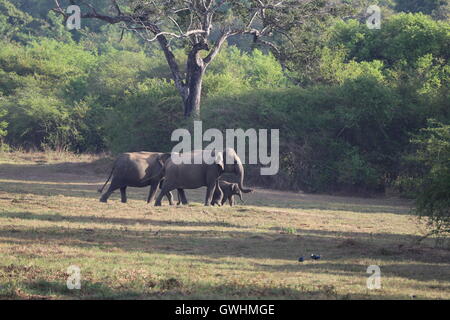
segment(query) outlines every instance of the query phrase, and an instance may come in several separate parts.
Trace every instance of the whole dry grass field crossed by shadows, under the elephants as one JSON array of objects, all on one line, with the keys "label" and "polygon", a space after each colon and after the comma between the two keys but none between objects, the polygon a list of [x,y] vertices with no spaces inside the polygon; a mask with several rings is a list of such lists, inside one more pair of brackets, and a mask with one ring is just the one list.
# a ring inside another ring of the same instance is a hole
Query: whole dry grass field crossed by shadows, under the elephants
[{"label": "whole dry grass field crossed by shadows, under the elephants", "polygon": [[[108,170],[93,156],[0,155],[1,299],[450,298],[448,239],[418,244],[406,201],[256,189],[209,208],[200,189],[156,208],[145,188],[103,204]],[[71,265],[81,290],[67,289]]]}]

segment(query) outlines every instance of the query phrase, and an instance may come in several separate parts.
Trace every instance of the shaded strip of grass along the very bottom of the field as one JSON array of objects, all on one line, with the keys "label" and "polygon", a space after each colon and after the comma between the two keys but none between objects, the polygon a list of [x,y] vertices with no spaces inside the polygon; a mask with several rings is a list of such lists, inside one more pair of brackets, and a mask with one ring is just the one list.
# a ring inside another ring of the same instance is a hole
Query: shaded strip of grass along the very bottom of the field
[{"label": "shaded strip of grass along the very bottom of the field", "polygon": [[[167,283],[176,282],[176,286],[167,287]],[[145,283],[141,283],[145,286]],[[151,285],[153,286],[153,284]],[[84,300],[130,300],[130,299],[401,299],[402,296],[386,296],[383,292],[371,294],[340,294],[333,285],[314,287],[292,286],[275,287],[254,284],[205,285],[194,283],[185,285],[171,278],[160,281],[151,288],[113,288],[101,282],[81,281],[80,290],[69,290],[62,281],[38,279],[15,285],[7,285],[0,290],[0,299],[84,299]]]}]

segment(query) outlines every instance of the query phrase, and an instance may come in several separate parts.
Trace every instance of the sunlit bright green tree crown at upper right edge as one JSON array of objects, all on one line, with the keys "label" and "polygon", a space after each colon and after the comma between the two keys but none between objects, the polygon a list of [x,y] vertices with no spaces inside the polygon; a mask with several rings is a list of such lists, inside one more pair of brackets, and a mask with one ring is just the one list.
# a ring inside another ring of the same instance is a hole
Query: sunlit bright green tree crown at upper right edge
[{"label": "sunlit bright green tree crown at upper right edge", "polygon": [[447,59],[450,24],[420,13],[392,16],[380,30],[369,30],[355,20],[339,22],[330,47],[344,47],[347,61],[381,60],[389,67],[414,63],[426,54]]}]

